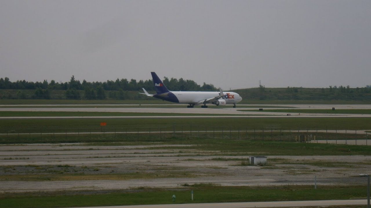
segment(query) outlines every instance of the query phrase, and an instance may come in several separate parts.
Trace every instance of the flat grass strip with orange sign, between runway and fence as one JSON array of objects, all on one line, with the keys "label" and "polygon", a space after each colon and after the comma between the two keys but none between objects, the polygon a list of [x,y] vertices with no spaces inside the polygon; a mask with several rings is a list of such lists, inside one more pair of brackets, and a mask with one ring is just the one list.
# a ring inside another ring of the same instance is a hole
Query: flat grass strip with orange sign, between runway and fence
[{"label": "flat grass strip with orange sign, between runway and fence", "polygon": [[60,118],[60,119],[1,119],[0,133],[5,130],[43,130],[125,128],[128,131],[144,131],[160,128],[175,130],[370,130],[371,118]]}]

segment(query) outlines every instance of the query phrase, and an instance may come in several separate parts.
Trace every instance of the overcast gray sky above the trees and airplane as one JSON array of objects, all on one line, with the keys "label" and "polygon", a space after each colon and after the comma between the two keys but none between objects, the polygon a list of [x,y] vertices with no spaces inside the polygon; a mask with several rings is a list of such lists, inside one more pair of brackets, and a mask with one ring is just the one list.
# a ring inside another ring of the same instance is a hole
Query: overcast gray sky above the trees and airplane
[{"label": "overcast gray sky above the trees and airplane", "polygon": [[0,64],[11,81],[365,87],[371,1],[0,0]]}]

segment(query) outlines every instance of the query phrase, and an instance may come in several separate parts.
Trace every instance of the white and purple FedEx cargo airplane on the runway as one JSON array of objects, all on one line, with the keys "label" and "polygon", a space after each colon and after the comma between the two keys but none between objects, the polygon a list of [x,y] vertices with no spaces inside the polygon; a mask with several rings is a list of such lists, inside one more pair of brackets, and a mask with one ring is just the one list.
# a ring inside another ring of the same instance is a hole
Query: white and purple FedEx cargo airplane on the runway
[{"label": "white and purple FedEx cargo airplane on the runway", "polygon": [[242,97],[239,94],[223,92],[220,87],[219,92],[169,91],[155,72],[151,72],[151,74],[156,88],[156,94],[149,94],[144,88],[142,88],[144,93],[139,94],[144,94],[173,103],[185,103],[188,104],[187,108],[193,108],[195,105],[201,105],[201,108],[207,108],[206,104],[214,104],[217,106],[233,104],[233,108],[235,108],[236,103],[242,100]]}]

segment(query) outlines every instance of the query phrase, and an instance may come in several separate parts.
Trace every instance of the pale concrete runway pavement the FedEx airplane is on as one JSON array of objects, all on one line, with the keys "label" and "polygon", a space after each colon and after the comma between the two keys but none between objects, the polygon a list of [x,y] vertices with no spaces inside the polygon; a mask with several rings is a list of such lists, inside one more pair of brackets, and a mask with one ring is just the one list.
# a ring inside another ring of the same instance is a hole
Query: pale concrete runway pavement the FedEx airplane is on
[{"label": "pale concrete runway pavement the FedEx airplane is on", "polygon": [[[174,104],[173,104],[174,105]],[[181,105],[181,104],[178,104]],[[87,105],[0,105],[0,111],[40,111],[40,112],[120,112],[120,113],[176,113],[176,114],[195,114],[195,115],[174,115],[174,116],[71,116],[71,117],[0,117],[2,119],[13,118],[210,118],[210,117],[371,117],[371,114],[323,114],[323,113],[289,113],[289,112],[266,112],[266,111],[240,111],[257,110],[256,105],[239,105],[237,108],[166,108],[150,107],[151,105],[141,105],[148,107],[81,107]],[[14,108],[12,108],[14,106]],[[18,106],[18,107],[15,107]],[[19,107],[22,106],[22,107]],[[23,107],[24,106],[24,107]],[[32,106],[32,107],[30,107]],[[37,107],[36,107],[37,106]],[[59,107],[58,107],[59,106]],[[63,107],[61,107],[63,106]],[[65,107],[71,106],[71,107]],[[72,107],[74,106],[74,107]],[[78,107],[80,106],[80,107]],[[99,105],[94,105],[99,106]],[[102,106],[102,105],[101,105]],[[104,105],[106,106],[106,105]],[[113,106],[113,105],[112,105]],[[118,105],[119,106],[119,105]],[[133,106],[133,105],[130,105]],[[158,105],[156,105],[158,106]],[[183,105],[181,105],[183,106]],[[243,106],[243,107],[242,107]],[[255,107],[249,107],[255,106]],[[264,105],[264,109],[371,109],[371,105]],[[267,107],[269,106],[269,108]],[[210,114],[210,115],[197,115]],[[289,115],[288,115],[289,114]]]}]

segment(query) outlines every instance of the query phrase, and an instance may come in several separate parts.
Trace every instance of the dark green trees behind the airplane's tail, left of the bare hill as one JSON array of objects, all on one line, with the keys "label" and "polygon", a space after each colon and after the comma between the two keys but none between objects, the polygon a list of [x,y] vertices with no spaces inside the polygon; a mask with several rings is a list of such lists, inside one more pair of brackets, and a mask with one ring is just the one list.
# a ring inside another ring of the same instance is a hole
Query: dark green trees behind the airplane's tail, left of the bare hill
[{"label": "dark green trees behind the airplane's tail, left of the bare hill", "polygon": [[[217,91],[213,84],[203,85],[197,84],[193,80],[184,80],[180,78],[167,78],[164,77],[163,83],[169,90],[172,91]],[[17,80],[10,81],[8,77],[0,78],[0,89],[3,90],[18,90],[16,95],[1,95],[0,98],[35,98],[35,99],[50,99],[52,96],[51,91],[64,90],[66,99],[87,99],[87,100],[104,100],[107,97],[112,99],[124,100],[128,98],[127,91],[141,91],[145,88],[148,91],[154,91],[154,84],[152,80],[135,80],[130,81],[126,78],[116,79],[115,81],[107,80],[105,82],[82,82],[75,79],[75,76],[70,78],[69,82],[58,83],[55,80],[42,82]],[[29,96],[22,90],[35,90],[33,95]],[[81,95],[83,91],[83,95]],[[129,96],[130,97],[130,96]],[[62,98],[62,97],[61,97]]]}]

